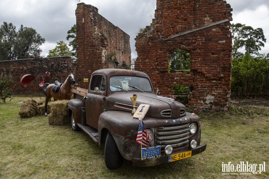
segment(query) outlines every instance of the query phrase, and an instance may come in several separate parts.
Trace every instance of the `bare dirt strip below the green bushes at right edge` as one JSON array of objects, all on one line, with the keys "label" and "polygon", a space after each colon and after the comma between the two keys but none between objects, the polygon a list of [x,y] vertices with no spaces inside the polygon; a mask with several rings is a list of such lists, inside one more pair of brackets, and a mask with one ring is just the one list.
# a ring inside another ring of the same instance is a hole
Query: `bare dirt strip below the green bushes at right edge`
[{"label": "bare dirt strip below the green bushes at right edge", "polygon": [[269,100],[262,98],[255,99],[235,99],[231,100],[233,105],[260,105],[269,107]]}]

